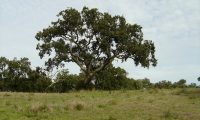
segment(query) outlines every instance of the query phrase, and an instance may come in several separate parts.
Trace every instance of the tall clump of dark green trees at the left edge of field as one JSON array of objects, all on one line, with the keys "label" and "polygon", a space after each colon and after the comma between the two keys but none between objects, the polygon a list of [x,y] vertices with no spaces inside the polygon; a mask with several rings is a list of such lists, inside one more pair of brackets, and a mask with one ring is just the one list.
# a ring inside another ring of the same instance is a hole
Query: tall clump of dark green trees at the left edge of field
[{"label": "tall clump of dark green trees at the left edge of field", "polygon": [[0,91],[44,92],[51,79],[41,68],[33,70],[30,65],[28,58],[0,57]]}]

